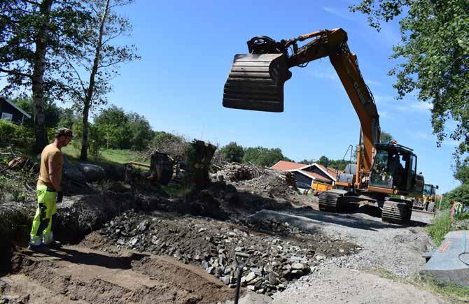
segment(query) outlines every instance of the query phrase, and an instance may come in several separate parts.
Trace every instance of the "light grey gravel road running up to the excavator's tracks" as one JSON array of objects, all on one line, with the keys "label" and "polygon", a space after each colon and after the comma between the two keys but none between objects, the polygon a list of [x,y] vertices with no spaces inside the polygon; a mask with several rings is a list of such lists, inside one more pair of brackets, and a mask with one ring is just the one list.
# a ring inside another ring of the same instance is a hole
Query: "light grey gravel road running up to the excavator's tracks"
[{"label": "light grey gravel road running up to the excavator's tracks", "polygon": [[445,303],[429,291],[402,282],[425,266],[421,254],[433,246],[423,231],[428,215],[415,212],[411,224],[400,226],[381,222],[370,215],[372,211],[339,214],[302,208],[252,215],[253,221],[276,219],[302,231],[349,240],[361,248],[357,254],[325,259],[311,275],[275,294],[274,303]]}]

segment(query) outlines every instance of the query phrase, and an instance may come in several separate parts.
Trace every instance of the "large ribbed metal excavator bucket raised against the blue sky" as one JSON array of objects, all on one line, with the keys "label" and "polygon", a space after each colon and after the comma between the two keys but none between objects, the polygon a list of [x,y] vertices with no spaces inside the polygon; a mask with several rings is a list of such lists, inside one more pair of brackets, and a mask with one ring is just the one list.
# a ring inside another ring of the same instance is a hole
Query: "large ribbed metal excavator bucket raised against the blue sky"
[{"label": "large ribbed metal excavator bucket raised against the blue sky", "polygon": [[283,83],[290,77],[285,55],[235,55],[225,83],[223,106],[283,112]]}]

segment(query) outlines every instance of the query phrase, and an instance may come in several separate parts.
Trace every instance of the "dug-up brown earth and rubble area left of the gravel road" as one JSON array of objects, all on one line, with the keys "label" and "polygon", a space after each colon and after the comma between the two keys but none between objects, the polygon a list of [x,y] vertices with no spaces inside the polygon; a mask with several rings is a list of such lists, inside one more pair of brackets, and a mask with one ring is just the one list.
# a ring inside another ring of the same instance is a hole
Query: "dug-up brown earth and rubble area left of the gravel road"
[{"label": "dug-up brown earth and rubble area left of the gravel road", "polygon": [[8,275],[0,279],[0,299],[224,303],[235,295],[237,251],[251,255],[242,294],[265,296],[311,273],[328,256],[357,252],[355,245],[321,231],[246,221],[261,208],[285,208],[284,202],[275,206],[272,199],[237,194],[220,184],[191,200],[114,191],[68,197],[57,206],[57,238],[66,245],[45,252],[25,249],[27,238],[18,238],[28,229],[30,208],[29,217],[22,224],[18,219],[10,231],[8,241],[15,245],[2,256]]}]

